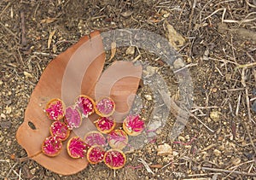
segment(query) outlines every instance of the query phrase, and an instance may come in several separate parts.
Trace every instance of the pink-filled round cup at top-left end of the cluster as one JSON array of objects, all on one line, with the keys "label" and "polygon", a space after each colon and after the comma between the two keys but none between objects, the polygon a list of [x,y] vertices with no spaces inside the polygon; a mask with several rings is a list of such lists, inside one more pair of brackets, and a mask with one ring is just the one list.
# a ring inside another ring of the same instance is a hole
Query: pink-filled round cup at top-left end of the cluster
[{"label": "pink-filled round cup at top-left end of the cluster", "polygon": [[59,120],[65,115],[65,105],[60,99],[52,99],[48,102],[45,112],[48,114],[49,119]]}]

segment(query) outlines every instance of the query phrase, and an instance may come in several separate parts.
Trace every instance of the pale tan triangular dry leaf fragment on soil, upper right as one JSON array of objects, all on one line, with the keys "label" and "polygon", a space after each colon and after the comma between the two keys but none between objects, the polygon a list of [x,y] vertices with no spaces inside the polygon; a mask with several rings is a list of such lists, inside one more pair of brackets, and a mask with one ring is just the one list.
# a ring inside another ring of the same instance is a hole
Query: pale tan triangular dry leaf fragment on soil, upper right
[{"label": "pale tan triangular dry leaf fragment on soil, upper right", "polygon": [[167,23],[167,38],[170,42],[170,44],[175,48],[176,50],[179,49],[180,46],[182,46],[186,40],[183,38],[181,34],[179,34],[172,25]]}]

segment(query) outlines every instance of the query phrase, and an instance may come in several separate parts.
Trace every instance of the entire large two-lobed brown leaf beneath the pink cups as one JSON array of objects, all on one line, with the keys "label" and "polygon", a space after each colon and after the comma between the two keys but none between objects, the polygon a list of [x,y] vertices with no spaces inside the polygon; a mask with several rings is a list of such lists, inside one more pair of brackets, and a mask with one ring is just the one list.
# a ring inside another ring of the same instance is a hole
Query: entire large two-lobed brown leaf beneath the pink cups
[{"label": "entire large two-lobed brown leaf beneath the pink cups", "polygon": [[[121,121],[131,108],[142,67],[127,61],[117,61],[101,76],[104,62],[102,38],[99,32],[93,32],[90,37],[81,38],[77,44],[49,63],[32,92],[24,122],[16,133],[17,141],[26,149],[28,157],[62,175],[77,173],[88,165],[85,159],[74,160],[69,157],[66,148],[68,139],[63,142],[58,156],[51,158],[42,153],[41,146],[45,137],[49,136],[49,126],[52,123],[44,113],[44,107],[53,98],[60,98],[68,107],[81,94],[96,101],[102,96],[110,96],[116,104],[113,118]],[[91,121],[84,119],[83,124],[73,130],[69,138],[84,138],[88,131],[96,130],[92,122],[97,118],[94,113],[90,115]],[[33,124],[35,128],[32,129],[29,124]]]}]

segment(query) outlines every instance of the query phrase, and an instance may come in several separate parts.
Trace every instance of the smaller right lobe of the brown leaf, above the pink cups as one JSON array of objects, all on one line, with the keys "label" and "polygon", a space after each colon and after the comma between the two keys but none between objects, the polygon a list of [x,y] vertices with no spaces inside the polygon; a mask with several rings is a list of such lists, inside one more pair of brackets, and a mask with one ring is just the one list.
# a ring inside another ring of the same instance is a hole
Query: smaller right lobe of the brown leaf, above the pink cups
[{"label": "smaller right lobe of the brown leaf, above the pink cups", "polygon": [[96,83],[96,101],[110,96],[116,104],[113,118],[121,123],[131,109],[142,77],[143,67],[131,61],[115,61]]}]

